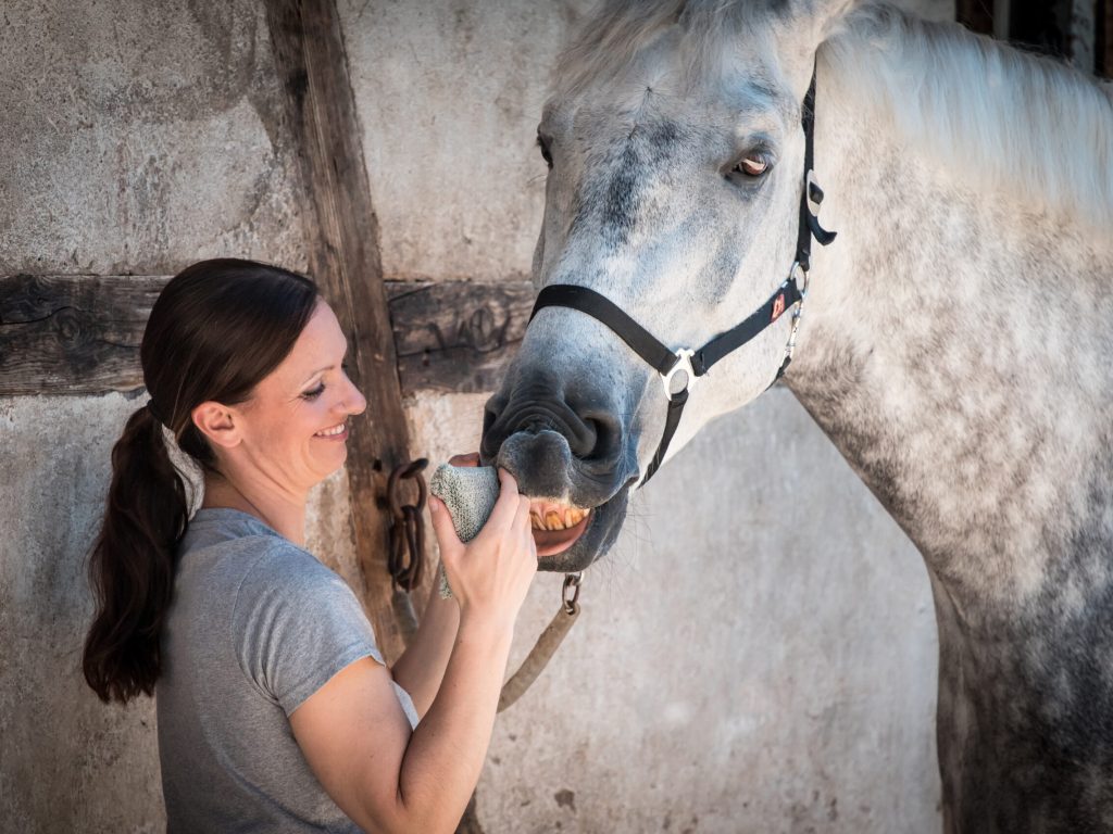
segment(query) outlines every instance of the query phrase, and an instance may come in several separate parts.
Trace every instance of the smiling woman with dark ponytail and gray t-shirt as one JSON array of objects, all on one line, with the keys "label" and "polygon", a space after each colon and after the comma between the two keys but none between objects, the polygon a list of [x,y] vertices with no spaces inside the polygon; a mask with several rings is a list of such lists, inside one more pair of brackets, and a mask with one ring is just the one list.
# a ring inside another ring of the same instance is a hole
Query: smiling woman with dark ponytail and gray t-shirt
[{"label": "smiling woman with dark ponytail and gray t-shirt", "polygon": [[[83,666],[106,702],[157,695],[170,832],[447,832],[479,781],[536,569],[529,502],[500,473],[465,546],[431,500],[454,597],[432,595],[387,668],[353,593],[303,549],[308,493],[367,406],[345,349],[314,284],[262,264],[196,264],[151,310],[150,403],[112,450]],[[191,519],[164,426],[204,473]]]}]

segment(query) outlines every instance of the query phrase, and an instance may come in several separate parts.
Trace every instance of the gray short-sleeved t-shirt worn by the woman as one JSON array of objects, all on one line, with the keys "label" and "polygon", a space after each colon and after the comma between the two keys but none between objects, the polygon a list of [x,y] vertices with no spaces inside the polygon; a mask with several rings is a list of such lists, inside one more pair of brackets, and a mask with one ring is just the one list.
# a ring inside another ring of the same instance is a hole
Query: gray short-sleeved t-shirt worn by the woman
[{"label": "gray short-sleeved t-shirt worn by the woman", "polygon": [[[156,686],[167,831],[357,832],[289,714],[361,657],[383,663],[335,573],[262,522],[201,509],[178,550]],[[417,723],[410,696],[398,701]]]}]

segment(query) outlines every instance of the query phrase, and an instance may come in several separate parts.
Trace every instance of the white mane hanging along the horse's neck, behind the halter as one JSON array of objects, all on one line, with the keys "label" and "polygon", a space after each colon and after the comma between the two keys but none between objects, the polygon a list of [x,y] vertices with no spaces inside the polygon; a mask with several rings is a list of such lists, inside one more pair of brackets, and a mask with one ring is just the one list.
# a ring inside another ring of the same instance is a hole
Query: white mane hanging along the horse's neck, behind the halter
[{"label": "white mane hanging along the horse's neck, behind the halter", "polygon": [[[1103,229],[1113,224],[1111,87],[957,24],[888,6],[853,13],[820,60],[966,185]],[[820,70],[821,71],[821,70]]]}]

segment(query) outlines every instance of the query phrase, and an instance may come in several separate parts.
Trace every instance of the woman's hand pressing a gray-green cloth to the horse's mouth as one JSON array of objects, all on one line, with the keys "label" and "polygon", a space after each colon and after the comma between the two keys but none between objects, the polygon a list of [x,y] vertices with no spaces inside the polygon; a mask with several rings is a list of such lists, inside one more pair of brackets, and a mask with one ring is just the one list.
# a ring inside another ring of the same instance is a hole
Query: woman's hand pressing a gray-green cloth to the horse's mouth
[{"label": "woman's hand pressing a gray-green cloth to the horse's mouth", "polygon": [[[471,457],[457,456],[453,461]],[[499,470],[499,480],[502,489],[491,517],[466,545],[456,536],[444,503],[430,498],[430,508],[461,617],[492,617],[510,625],[536,573],[538,552],[530,528],[530,499],[518,494],[518,481],[505,469]]]}]

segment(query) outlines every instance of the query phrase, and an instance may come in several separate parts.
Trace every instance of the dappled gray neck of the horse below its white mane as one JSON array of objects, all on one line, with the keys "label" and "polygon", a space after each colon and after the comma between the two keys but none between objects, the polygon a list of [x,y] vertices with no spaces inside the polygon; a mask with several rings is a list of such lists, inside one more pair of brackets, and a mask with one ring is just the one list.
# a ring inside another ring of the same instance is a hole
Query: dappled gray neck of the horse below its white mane
[{"label": "dappled gray neck of the horse below its white mane", "polygon": [[788,386],[959,604],[1023,602],[1113,543],[1109,245],[965,189],[820,82],[840,234]]}]

